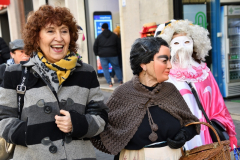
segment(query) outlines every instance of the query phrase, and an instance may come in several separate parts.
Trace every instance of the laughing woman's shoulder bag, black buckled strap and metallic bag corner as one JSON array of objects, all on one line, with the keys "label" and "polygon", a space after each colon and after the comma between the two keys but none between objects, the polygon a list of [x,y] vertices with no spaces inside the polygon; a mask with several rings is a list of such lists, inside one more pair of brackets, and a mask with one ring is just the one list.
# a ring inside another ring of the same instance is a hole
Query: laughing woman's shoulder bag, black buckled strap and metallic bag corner
[{"label": "laughing woman's shoulder bag, black buckled strap and metallic bag corner", "polygon": [[[26,92],[26,84],[29,77],[29,68],[22,68],[22,82],[17,86],[17,104],[18,104],[18,118],[21,119],[22,108],[24,104],[24,95]],[[7,160],[13,156],[15,144],[8,143],[0,137],[0,160]]]}]

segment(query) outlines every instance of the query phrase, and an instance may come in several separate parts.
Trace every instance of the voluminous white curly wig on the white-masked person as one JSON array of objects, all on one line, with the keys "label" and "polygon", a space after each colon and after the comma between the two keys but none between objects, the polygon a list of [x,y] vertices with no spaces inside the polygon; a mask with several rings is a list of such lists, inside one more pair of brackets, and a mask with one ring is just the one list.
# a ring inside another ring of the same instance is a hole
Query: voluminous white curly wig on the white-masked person
[{"label": "voluminous white curly wig on the white-masked person", "polygon": [[155,36],[163,38],[170,44],[174,33],[186,33],[193,39],[193,48],[198,59],[204,61],[208,51],[212,49],[208,30],[188,20],[170,20],[161,24],[156,29]]}]

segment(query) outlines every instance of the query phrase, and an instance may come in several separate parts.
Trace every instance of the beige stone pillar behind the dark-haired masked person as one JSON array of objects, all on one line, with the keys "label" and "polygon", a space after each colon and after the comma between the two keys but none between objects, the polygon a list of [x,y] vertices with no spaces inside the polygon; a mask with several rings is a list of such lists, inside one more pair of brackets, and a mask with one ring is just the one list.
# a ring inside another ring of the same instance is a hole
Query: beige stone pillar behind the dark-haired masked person
[{"label": "beige stone pillar behind the dark-haired masked person", "polygon": [[142,25],[149,22],[160,24],[173,19],[172,0],[125,1],[126,6],[123,7],[122,0],[119,0],[124,82],[133,76],[129,63],[130,50],[133,42],[140,38]]}]

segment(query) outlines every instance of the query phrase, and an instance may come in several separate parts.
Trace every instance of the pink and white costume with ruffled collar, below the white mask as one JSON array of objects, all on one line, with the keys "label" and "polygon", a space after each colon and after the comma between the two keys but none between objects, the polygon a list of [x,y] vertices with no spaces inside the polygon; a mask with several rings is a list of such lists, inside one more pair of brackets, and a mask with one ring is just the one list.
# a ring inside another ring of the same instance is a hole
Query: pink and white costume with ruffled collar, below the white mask
[{"label": "pink and white costume with ruffled collar, below the white mask", "polygon": [[[198,93],[202,106],[209,119],[220,121],[226,128],[229,136],[235,136],[235,126],[228,109],[224,103],[218,85],[205,63],[197,64],[196,67],[188,69],[171,69],[168,82],[173,83],[180,91],[192,113],[202,122],[206,122],[203,114],[198,108],[194,95],[186,82],[191,82]],[[187,150],[212,143],[208,127],[201,127],[200,135],[185,144]]]}]

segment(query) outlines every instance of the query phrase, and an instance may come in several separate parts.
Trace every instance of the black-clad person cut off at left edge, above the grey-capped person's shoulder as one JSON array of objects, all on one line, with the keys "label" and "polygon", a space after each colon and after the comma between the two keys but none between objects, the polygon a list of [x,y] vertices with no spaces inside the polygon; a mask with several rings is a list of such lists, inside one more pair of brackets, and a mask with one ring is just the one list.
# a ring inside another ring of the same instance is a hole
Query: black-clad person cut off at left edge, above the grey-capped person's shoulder
[{"label": "black-clad person cut off at left edge, above the grey-capped person's shoulder", "polygon": [[0,64],[6,63],[10,58],[10,50],[6,42],[0,37]]}]

